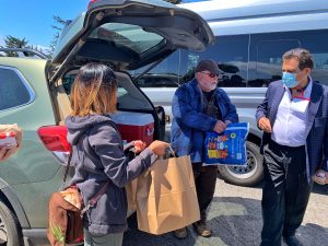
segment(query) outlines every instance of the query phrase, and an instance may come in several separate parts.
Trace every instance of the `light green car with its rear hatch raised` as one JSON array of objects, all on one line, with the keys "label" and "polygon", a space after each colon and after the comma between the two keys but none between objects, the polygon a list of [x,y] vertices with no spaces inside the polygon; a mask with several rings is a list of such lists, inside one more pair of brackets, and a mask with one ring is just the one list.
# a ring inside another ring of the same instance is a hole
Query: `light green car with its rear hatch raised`
[{"label": "light green car with its rear hatch raised", "polygon": [[110,66],[119,84],[117,115],[124,116],[116,119],[133,125],[136,114],[141,115],[153,124],[141,137],[161,139],[163,112],[157,114],[126,71],[162,59],[177,47],[204,50],[213,39],[198,14],[171,3],[93,0],[63,28],[51,60],[5,57],[8,50],[1,49],[1,124],[19,124],[24,136],[20,152],[0,165],[0,244],[46,242],[47,202],[62,185],[70,150],[63,126],[71,109],[67,93],[81,66],[91,61]]}]

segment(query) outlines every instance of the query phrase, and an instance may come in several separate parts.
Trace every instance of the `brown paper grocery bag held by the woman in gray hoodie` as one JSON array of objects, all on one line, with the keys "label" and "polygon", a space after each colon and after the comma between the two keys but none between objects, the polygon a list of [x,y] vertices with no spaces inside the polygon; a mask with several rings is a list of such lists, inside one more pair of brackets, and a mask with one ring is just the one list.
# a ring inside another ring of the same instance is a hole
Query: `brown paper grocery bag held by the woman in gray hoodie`
[{"label": "brown paper grocery bag held by the woman in gray hoodie", "polygon": [[140,231],[163,234],[200,220],[190,156],[157,160],[138,178]]}]

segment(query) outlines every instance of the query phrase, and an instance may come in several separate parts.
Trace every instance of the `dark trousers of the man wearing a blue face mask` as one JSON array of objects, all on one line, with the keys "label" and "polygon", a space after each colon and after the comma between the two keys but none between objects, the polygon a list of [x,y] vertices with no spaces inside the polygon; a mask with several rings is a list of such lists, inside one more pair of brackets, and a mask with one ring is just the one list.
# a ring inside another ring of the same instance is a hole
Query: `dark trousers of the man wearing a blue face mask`
[{"label": "dark trousers of the man wearing a blue face mask", "polygon": [[305,147],[265,145],[261,246],[280,246],[281,236],[295,235],[313,183],[306,176]]}]

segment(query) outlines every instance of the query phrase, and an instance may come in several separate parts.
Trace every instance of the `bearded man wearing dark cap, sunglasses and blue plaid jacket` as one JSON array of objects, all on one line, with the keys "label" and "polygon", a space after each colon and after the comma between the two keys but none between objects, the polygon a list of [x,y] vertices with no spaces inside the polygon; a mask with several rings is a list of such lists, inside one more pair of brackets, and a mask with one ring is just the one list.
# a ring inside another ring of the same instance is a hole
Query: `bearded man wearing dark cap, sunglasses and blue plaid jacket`
[{"label": "bearded man wearing dark cap, sunglasses and blue plaid jacket", "polygon": [[[216,87],[219,74],[215,61],[201,60],[196,68],[195,78],[177,89],[172,104],[172,148],[178,156],[191,157],[200,209],[200,221],[194,223],[194,227],[203,237],[211,236],[206,211],[213,199],[218,174],[216,166],[202,165],[204,133],[221,133],[230,122],[238,121],[235,106],[226,93]],[[185,238],[187,230],[175,231],[175,236]]]}]

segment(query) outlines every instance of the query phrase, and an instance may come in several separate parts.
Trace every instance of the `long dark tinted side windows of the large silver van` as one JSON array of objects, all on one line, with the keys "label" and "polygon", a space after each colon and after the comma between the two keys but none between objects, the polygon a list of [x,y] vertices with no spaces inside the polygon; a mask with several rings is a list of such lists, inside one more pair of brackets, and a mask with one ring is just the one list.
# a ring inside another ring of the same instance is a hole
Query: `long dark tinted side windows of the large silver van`
[{"label": "long dark tinted side windows of the large silver van", "polygon": [[[267,87],[270,82],[281,79],[283,52],[302,47],[314,57],[313,78],[328,84],[327,44],[328,30],[222,36],[203,52],[175,51],[137,83],[140,87],[175,86],[176,81],[181,84],[194,78],[199,60],[214,59],[222,70],[219,86]],[[131,71],[131,74],[138,75],[142,69]]]}]

